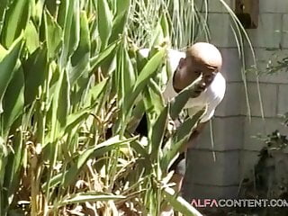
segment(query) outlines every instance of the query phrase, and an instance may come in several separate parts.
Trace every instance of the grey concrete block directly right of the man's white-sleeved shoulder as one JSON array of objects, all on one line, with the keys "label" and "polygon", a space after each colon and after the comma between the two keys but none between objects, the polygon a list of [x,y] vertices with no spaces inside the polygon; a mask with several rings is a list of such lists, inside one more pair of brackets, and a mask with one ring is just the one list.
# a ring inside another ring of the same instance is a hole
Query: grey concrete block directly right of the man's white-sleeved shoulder
[{"label": "grey concrete block directly right of the man's white-sleeved shoulder", "polygon": [[218,105],[215,116],[239,115],[245,99],[244,93],[243,83],[227,83],[224,98]]}]

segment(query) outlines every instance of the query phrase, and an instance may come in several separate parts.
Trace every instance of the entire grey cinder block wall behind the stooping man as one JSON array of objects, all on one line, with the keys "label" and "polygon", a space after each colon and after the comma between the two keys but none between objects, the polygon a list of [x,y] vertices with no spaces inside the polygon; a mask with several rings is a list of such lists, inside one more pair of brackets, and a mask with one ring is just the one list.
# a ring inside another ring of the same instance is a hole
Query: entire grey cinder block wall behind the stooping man
[{"label": "entire grey cinder block wall behind the stooping man", "polygon": [[[277,115],[288,112],[288,72],[260,76],[259,86],[257,76],[247,74],[246,94],[241,76],[242,62],[230,29],[229,14],[218,0],[209,3],[211,42],[220,48],[223,56],[221,72],[227,80],[227,91],[211,124],[206,126],[187,154],[183,193],[188,201],[192,198],[237,197],[240,181],[253,170],[258,152],[264,145],[252,136],[275,129],[284,132]],[[234,8],[235,0],[226,0],[226,3]],[[259,69],[265,71],[271,58],[288,56],[288,1],[260,0],[258,27],[247,32],[256,51]],[[280,47],[282,50],[267,50]],[[252,52],[247,48],[246,67],[254,64],[252,59]],[[258,87],[265,120],[261,117]],[[247,97],[251,121],[247,117]]]}]

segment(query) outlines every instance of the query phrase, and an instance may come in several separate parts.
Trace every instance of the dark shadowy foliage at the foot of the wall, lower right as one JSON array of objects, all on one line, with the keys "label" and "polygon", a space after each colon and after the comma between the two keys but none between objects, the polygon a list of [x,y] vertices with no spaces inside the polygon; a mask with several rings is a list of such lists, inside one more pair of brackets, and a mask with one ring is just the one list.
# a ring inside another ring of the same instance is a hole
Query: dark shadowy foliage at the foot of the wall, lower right
[{"label": "dark shadowy foliage at the foot of the wall, lower right", "polygon": [[[284,116],[284,125],[287,127],[287,115]],[[257,165],[253,176],[243,179],[240,194],[247,199],[283,199],[288,198],[287,162],[288,139],[279,130],[266,136],[257,135],[257,139],[265,142],[259,152]],[[285,162],[286,161],[286,162]],[[258,215],[285,215],[285,208],[262,208],[255,210],[239,210],[240,212],[255,213]]]}]

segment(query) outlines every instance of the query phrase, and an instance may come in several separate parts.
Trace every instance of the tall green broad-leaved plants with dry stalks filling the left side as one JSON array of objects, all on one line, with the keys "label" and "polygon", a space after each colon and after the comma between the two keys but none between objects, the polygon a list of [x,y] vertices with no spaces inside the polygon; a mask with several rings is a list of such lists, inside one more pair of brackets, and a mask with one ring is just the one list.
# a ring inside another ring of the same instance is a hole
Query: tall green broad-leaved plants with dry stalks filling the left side
[{"label": "tall green broad-leaved plants with dry stalks filling the left side", "polygon": [[192,43],[202,23],[189,5],[193,27],[178,35],[183,1],[1,3],[0,215],[158,215],[167,201],[200,215],[171,191],[167,169],[202,113],[166,136],[183,103],[161,95],[168,41]]}]

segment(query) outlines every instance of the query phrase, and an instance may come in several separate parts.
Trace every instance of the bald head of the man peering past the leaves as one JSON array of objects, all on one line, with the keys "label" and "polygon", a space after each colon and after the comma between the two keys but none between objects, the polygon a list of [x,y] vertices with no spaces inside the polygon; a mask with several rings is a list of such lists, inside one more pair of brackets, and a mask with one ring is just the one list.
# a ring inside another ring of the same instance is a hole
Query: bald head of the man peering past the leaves
[{"label": "bald head of the man peering past the leaves", "polygon": [[186,50],[186,57],[180,59],[174,86],[181,90],[202,75],[201,85],[206,88],[211,85],[221,65],[220,51],[214,45],[206,42],[195,43]]}]

